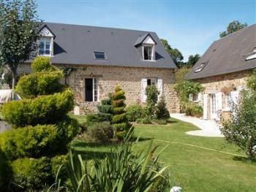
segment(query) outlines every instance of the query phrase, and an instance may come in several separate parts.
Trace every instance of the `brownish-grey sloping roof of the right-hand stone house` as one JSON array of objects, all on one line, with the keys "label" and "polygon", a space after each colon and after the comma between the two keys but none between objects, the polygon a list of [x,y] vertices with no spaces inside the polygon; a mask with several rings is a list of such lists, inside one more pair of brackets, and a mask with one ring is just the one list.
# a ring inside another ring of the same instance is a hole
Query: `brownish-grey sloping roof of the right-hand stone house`
[{"label": "brownish-grey sloping roof of the right-hand stone house", "polygon": [[[194,80],[253,69],[256,67],[256,59],[246,61],[246,55],[252,53],[255,47],[256,24],[213,42],[192,67],[186,78]],[[195,73],[195,69],[202,63],[207,64],[201,72]]]}]

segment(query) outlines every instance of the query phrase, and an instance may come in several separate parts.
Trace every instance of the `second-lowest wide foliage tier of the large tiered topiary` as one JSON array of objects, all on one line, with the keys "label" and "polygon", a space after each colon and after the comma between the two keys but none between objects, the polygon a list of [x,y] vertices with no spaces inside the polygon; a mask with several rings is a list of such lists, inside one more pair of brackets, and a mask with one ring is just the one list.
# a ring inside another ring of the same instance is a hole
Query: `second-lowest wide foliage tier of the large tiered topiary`
[{"label": "second-lowest wide foliage tier of the large tiered topiary", "polygon": [[56,125],[26,126],[4,131],[0,135],[0,147],[9,160],[66,153],[65,146],[77,131],[78,121],[71,118]]}]

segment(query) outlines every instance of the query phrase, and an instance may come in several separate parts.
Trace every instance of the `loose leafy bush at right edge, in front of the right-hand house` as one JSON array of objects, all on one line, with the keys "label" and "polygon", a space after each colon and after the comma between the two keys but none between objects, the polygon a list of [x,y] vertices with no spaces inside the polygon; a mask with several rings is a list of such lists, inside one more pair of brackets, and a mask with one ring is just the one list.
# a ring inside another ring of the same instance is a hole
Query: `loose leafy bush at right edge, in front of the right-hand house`
[{"label": "loose leafy bush at right edge, in front of the right-hand house", "polygon": [[241,92],[238,104],[231,103],[229,120],[222,121],[225,139],[246,152],[249,161],[256,157],[256,70],[247,80],[247,89]]}]

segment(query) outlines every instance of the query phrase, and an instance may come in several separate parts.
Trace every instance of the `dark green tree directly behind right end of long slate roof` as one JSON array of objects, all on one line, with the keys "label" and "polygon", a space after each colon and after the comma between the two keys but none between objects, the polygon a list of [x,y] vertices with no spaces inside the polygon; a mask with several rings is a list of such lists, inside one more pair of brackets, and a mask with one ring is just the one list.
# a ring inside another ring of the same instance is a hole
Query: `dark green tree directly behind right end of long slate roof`
[{"label": "dark green tree directly behind right end of long slate roof", "polygon": [[184,63],[182,60],[184,59],[181,51],[179,51],[176,48],[170,47],[169,43],[167,42],[166,39],[161,39],[162,45],[164,45],[165,50],[167,53],[169,53],[170,57],[173,59],[174,63],[176,66],[181,67]]}]

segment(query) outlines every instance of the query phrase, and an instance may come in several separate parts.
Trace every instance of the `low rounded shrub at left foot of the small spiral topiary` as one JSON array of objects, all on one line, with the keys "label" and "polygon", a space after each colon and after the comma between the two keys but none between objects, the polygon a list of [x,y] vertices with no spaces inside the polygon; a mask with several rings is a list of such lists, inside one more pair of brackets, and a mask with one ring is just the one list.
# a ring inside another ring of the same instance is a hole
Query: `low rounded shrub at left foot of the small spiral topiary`
[{"label": "low rounded shrub at left foot of the small spiral topiary", "polygon": [[110,142],[113,139],[113,127],[109,122],[94,123],[88,128],[89,137],[98,142]]}]

